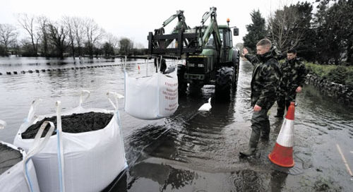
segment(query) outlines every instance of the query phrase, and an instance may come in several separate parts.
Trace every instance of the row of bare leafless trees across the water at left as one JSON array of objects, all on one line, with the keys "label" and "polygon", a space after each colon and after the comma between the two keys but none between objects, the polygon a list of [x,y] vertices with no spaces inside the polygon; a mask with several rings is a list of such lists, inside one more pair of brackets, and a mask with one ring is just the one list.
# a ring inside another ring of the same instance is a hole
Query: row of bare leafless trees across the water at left
[{"label": "row of bare leafless trees across the water at left", "polygon": [[[20,28],[0,23],[0,56],[112,56],[145,54],[142,44],[105,32],[92,18],[17,15]],[[25,38],[19,40],[19,30]]]}]

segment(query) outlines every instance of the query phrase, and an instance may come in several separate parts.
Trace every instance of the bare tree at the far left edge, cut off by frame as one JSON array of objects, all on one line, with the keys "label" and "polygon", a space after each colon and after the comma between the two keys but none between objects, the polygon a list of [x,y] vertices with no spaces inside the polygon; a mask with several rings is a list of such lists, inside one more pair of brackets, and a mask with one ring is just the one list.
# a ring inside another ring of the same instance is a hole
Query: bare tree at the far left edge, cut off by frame
[{"label": "bare tree at the far left edge, cut off by frame", "polygon": [[8,46],[16,43],[16,28],[11,24],[0,24],[0,43],[4,44],[5,54],[8,52]]}]

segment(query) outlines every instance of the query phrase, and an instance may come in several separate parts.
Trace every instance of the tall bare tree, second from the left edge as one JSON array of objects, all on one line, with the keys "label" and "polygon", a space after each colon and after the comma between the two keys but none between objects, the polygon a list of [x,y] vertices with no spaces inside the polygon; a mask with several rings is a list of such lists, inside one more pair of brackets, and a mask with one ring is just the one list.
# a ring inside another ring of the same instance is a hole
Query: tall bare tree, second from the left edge
[{"label": "tall bare tree, second from the left edge", "polygon": [[35,16],[28,16],[26,13],[20,13],[18,14],[18,23],[20,23],[21,27],[30,35],[32,48],[37,56],[39,37],[37,37],[37,32],[35,30]]}]

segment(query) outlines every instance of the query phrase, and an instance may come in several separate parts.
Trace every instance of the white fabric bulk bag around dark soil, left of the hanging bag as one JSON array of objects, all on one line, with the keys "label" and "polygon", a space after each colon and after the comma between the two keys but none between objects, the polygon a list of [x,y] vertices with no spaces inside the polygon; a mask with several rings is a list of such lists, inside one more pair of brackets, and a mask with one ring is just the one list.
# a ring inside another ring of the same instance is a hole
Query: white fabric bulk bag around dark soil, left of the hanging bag
[{"label": "white fabric bulk bag around dark soil, left of the hanging bag", "polygon": [[[61,113],[60,102],[56,104],[56,114],[31,119],[32,112],[35,111],[32,110],[35,104],[32,104],[28,114],[29,123],[21,126],[14,143],[27,150],[31,139],[21,138],[20,133],[44,117],[56,115],[56,135],[51,136],[42,152],[32,158],[40,191],[102,191],[127,167],[124,140],[119,126],[117,98],[114,105],[115,111],[84,109],[79,106]],[[106,127],[97,131],[83,133],[61,131],[61,115],[86,112],[101,112],[114,114],[114,116]]]}]

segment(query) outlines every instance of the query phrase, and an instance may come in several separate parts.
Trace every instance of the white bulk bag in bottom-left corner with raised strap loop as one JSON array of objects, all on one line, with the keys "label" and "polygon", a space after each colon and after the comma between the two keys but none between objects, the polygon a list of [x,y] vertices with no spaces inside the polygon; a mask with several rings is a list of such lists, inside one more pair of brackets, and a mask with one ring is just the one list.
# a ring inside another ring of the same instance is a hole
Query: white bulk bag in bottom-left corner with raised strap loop
[{"label": "white bulk bag in bottom-left corner with raised strap loop", "polygon": [[13,165],[10,169],[0,175],[0,191],[1,192],[34,192],[40,191],[37,174],[35,173],[35,166],[30,159],[32,155],[35,155],[37,152],[40,152],[42,148],[46,145],[49,140],[50,135],[52,135],[54,131],[54,124],[50,122],[50,129],[47,132],[47,135],[44,138],[40,138],[42,132],[44,131],[45,126],[49,121],[44,121],[42,124],[40,131],[38,131],[35,139],[33,139],[33,143],[30,143],[31,148],[29,149],[28,154],[22,149],[18,149],[15,145],[11,145],[9,143],[1,142],[3,145],[7,145],[14,150],[19,150],[22,154],[23,160]]}]

